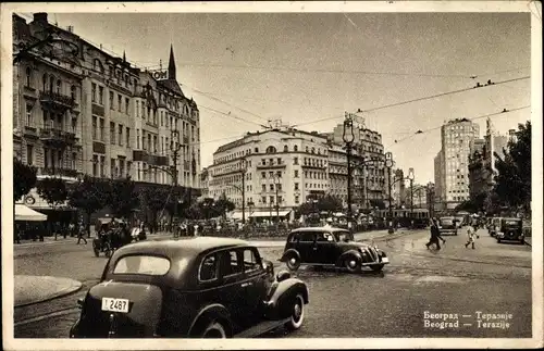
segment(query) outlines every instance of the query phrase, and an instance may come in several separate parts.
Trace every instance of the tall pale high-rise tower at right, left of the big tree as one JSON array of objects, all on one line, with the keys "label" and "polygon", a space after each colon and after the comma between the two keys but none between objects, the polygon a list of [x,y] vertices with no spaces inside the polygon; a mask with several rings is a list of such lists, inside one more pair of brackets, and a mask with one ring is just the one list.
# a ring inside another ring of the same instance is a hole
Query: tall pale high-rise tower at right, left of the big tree
[{"label": "tall pale high-rise tower at right, left of the big tree", "polygon": [[448,121],[441,128],[444,162],[435,168],[435,177],[440,175],[441,202],[446,209],[469,199],[469,146],[479,135],[480,126],[467,118]]}]

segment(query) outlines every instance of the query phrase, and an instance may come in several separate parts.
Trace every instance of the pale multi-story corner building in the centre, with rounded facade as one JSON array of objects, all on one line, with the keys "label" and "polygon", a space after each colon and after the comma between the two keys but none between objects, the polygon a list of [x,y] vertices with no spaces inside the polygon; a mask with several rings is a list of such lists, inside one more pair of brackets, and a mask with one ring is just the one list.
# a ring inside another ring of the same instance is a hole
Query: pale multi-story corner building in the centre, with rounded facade
[{"label": "pale multi-story corner building in the centre, with rounded facade", "polygon": [[293,128],[248,133],[213,153],[209,196],[217,199],[224,193],[242,208],[244,189],[246,206],[255,216],[285,216],[327,191],[326,167],[327,141],[317,133]]}]

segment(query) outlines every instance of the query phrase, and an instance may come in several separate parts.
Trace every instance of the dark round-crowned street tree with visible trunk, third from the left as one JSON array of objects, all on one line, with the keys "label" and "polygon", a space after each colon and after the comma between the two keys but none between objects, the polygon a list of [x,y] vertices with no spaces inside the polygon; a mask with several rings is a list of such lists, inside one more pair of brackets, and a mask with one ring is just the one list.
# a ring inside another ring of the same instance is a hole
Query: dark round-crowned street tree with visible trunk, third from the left
[{"label": "dark round-crowned street tree with visible trunk, third from the left", "polygon": [[103,179],[85,176],[83,181],[73,186],[69,191],[69,205],[79,209],[87,215],[86,228],[89,237],[90,216],[104,208],[107,186]]}]

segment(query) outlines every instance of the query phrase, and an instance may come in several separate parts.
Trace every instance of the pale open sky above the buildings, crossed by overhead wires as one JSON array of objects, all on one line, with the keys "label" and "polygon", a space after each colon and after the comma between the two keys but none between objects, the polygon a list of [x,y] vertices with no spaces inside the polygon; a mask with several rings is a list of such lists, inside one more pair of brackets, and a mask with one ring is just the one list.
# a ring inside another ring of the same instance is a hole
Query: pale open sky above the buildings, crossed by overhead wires
[{"label": "pale open sky above the buildings, crossed by overhead wires", "polygon": [[[413,167],[425,184],[441,149],[436,127],[480,117],[483,134],[481,116],[531,102],[528,13],[50,13],[49,21],[110,53],[125,51],[141,68],[161,60],[165,68],[172,45],[177,80],[200,108],[203,166],[219,146],[268,120],[332,131],[345,111],[361,109],[373,110],[359,115],[382,134],[396,167]],[[528,120],[527,108],[492,117],[499,133]]]}]

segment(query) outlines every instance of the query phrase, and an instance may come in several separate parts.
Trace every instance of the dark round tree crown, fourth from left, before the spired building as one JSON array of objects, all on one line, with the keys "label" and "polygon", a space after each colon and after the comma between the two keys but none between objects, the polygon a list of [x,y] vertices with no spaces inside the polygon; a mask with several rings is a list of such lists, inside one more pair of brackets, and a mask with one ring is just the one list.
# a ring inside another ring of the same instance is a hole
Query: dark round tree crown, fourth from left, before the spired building
[{"label": "dark round tree crown, fourth from left, before the spired building", "polygon": [[109,179],[106,186],[106,204],[110,206],[114,217],[129,217],[139,205],[139,196],[135,184],[129,177]]}]

